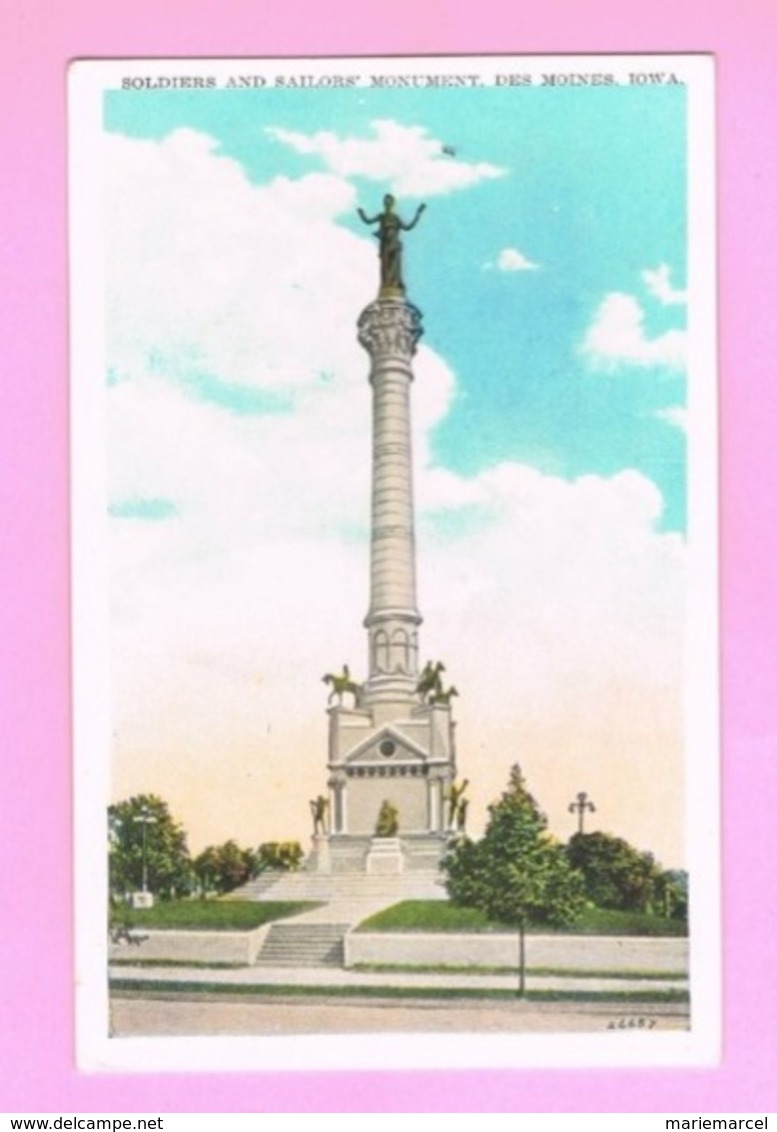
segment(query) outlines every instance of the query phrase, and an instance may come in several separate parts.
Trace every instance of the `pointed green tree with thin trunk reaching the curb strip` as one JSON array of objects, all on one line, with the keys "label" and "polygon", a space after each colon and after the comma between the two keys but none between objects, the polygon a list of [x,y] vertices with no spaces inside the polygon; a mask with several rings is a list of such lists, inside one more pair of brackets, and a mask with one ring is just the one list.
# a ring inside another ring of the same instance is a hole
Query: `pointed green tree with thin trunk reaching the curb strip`
[{"label": "pointed green tree with thin trunk reaching the curb strip", "polygon": [[526,990],[528,924],[562,927],[583,910],[582,877],[547,832],[547,818],[526,788],[519,766],[498,801],[488,807],[479,841],[459,839],[443,860],[454,903],[479,908],[489,919],[519,929],[520,984]]}]

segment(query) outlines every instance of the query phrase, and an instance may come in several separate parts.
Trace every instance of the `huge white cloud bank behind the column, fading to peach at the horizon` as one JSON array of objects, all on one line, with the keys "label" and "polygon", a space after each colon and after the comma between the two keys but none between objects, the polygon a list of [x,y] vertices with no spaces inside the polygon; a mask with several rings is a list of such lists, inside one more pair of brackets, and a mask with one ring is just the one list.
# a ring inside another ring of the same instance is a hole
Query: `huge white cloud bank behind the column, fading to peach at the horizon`
[{"label": "huge white cloud bank behind the column, fading to peach at the horizon", "polygon": [[[325,774],[321,677],[362,671],[366,653],[355,318],[374,255],[336,224],[335,177],[253,186],[191,135],[110,147],[112,495],[177,512],[112,522],[116,792],[169,798],[195,846],[305,838]],[[291,389],[293,411],[198,398],[197,366]],[[584,787],[614,832],[676,859],[683,547],[657,532],[659,492],[631,471],[437,468],[454,376],[420,348],[416,377],[421,648],[461,693],[476,824],[520,760],[552,822]]]}]

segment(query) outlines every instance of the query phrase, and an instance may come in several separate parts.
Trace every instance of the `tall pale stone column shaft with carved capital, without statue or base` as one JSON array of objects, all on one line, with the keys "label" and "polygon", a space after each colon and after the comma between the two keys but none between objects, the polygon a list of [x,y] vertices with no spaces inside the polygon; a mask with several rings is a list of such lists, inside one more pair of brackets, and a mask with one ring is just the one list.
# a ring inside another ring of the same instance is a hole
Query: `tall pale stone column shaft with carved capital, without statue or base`
[{"label": "tall pale stone column shaft with carved capital, without statue or base", "polygon": [[410,443],[411,360],[421,314],[405,299],[381,297],[362,311],[359,342],[372,360],[373,505],[369,678],[365,703],[416,701],[418,626]]}]

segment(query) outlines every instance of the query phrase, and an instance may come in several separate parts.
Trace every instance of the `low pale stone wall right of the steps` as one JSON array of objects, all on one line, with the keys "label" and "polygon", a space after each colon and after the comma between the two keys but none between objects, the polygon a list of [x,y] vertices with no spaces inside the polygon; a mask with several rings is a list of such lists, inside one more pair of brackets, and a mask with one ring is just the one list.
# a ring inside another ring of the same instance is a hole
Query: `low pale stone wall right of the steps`
[{"label": "low pale stone wall right of the steps", "polygon": [[[614,935],[527,935],[528,967],[590,971],[688,971],[688,940]],[[518,934],[351,932],[345,967],[516,967]]]}]

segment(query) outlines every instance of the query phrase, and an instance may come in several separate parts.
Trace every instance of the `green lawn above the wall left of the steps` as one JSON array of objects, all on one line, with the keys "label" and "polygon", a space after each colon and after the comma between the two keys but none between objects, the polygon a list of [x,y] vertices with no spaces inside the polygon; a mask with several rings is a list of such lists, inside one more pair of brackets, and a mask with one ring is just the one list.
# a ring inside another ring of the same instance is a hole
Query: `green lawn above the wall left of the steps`
[{"label": "green lawn above the wall left of the steps", "polygon": [[[153,908],[128,912],[133,931],[248,932],[271,920],[285,919],[316,908],[310,901],[164,900]],[[122,914],[119,914],[121,916]],[[119,919],[117,916],[117,920]]]}]

